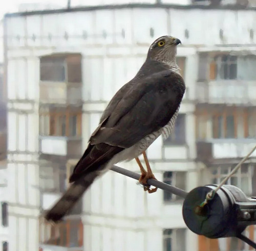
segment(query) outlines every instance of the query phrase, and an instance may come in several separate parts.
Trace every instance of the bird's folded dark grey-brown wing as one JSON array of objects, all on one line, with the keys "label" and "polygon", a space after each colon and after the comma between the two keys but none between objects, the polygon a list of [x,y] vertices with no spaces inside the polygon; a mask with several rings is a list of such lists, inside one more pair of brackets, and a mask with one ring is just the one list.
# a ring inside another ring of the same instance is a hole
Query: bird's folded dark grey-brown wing
[{"label": "bird's folded dark grey-brown wing", "polygon": [[138,80],[124,93],[117,93],[70,181],[164,127],[177,111],[184,91],[182,77],[165,70]]}]

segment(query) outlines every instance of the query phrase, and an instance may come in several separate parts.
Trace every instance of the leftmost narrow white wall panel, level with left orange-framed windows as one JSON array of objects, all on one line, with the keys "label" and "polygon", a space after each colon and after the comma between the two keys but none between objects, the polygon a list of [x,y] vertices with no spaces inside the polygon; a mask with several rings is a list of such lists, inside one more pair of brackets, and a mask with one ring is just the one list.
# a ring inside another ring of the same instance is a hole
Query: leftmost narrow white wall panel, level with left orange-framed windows
[{"label": "leftmost narrow white wall panel, level with left orange-framed windows", "polygon": [[15,151],[17,149],[17,114],[8,112],[8,150]]}]

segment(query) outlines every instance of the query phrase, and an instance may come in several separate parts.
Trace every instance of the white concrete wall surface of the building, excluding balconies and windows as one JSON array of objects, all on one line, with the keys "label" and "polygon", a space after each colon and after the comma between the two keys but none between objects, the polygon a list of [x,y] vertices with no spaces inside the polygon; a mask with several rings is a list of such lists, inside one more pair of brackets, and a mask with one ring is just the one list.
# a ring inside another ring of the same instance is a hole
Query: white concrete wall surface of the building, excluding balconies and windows
[{"label": "white concrete wall surface of the building, excluding balconies and windows", "polygon": [[[148,154],[154,160],[152,168],[158,179],[162,179],[163,171],[189,171],[187,189],[192,189],[198,184],[193,162],[196,157],[195,107],[191,102],[196,96],[197,79],[194,45],[212,48],[216,44],[244,44],[246,47],[255,43],[255,37],[251,39],[248,32],[255,30],[255,15],[255,11],[248,10],[134,8],[8,17],[10,250],[38,250],[39,56],[60,52],[82,54],[85,102],[82,135],[83,148],[86,148],[106,103],[134,77],[150,43],[166,34],[181,39],[183,45],[179,46],[178,55],[187,57],[185,81],[189,90],[188,100],[180,110],[187,115],[186,146],[161,149],[163,142],[159,138],[148,149]],[[154,29],[152,37],[151,28]],[[223,40],[219,36],[220,29],[224,32]],[[87,39],[82,38],[84,32]],[[106,38],[101,36],[103,32]],[[65,33],[68,39],[64,39]],[[51,39],[49,34],[53,36]],[[163,162],[162,158],[166,157],[171,159]],[[138,171],[134,162],[122,165]],[[162,228],[185,227],[181,205],[164,205],[161,191],[148,195],[135,181],[112,172],[106,173],[84,196],[84,212],[85,250],[100,250],[100,247],[104,250],[108,247],[111,247],[108,250],[161,250]],[[186,243],[187,250],[197,249],[194,234],[187,232]]]}]

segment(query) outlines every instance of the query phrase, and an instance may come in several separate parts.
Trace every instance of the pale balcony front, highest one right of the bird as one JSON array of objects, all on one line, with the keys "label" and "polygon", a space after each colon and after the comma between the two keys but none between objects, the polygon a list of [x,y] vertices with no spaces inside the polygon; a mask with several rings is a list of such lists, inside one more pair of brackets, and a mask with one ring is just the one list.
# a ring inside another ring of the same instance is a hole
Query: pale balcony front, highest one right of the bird
[{"label": "pale balcony front, highest one right of the bird", "polygon": [[199,103],[256,105],[256,82],[242,80],[219,80],[198,82],[196,99]]}]

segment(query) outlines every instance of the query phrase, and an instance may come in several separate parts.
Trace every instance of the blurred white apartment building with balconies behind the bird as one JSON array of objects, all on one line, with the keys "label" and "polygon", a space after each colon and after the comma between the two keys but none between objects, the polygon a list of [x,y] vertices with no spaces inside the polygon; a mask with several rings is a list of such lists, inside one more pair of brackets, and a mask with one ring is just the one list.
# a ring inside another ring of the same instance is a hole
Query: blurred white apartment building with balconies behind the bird
[{"label": "blurred white apartment building with balconies behind the bird", "polygon": [[[1,177],[0,250],[248,250],[236,239],[191,233],[181,198],[147,194],[112,171],[60,224],[39,217],[67,188],[106,104],[159,36],[182,41],[177,62],[187,89],[172,136],[147,150],[157,179],[187,191],[219,183],[256,143],[255,1],[90,5],[23,5],[5,16],[8,187]],[[255,157],[228,181],[247,195],[256,187]],[[120,166],[139,170],[134,161]],[[247,235],[255,240],[253,227]]]}]

